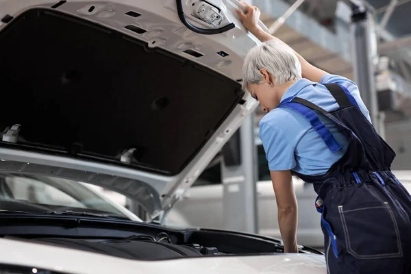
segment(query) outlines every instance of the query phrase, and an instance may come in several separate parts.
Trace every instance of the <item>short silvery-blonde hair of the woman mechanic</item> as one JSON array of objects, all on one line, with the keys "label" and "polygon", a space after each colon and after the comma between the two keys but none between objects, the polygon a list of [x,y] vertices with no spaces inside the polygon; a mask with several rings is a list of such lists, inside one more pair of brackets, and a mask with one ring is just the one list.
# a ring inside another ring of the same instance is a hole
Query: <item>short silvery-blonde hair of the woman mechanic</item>
[{"label": "short silvery-blonde hair of the woman mechanic", "polygon": [[242,66],[242,89],[249,91],[249,84],[262,84],[260,69],[266,69],[275,84],[286,84],[301,79],[301,64],[295,52],[280,40],[268,40],[253,47],[247,53]]}]

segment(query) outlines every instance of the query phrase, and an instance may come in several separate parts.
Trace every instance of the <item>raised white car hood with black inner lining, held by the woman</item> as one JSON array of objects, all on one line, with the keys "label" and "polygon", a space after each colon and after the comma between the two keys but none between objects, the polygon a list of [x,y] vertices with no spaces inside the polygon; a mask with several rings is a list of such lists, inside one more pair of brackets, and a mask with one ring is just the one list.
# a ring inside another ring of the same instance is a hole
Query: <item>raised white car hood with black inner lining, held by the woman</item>
[{"label": "raised white car hood with black inner lining, held by the woman", "polygon": [[240,3],[182,2],[0,0],[1,171],[171,208],[258,105]]}]

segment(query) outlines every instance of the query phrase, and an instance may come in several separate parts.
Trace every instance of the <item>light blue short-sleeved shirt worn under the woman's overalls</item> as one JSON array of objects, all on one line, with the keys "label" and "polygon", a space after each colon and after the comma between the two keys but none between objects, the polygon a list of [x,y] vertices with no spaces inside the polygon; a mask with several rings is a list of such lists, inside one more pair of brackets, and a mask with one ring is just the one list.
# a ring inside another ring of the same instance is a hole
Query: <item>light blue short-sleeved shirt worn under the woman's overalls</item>
[{"label": "light blue short-sleeved shirt worn under the woman's overalls", "polygon": [[[292,96],[301,97],[327,111],[337,110],[338,103],[323,84],[345,86],[356,99],[364,116],[371,122],[369,111],[354,82],[338,75],[324,75],[320,83],[299,79],[284,93],[281,101]],[[310,122],[295,110],[275,108],[260,121],[260,138],[266,152],[270,171],[292,169],[304,175],[321,175],[347,151],[347,139],[338,132],[334,123],[319,112],[319,119],[333,134],[343,149],[332,153]]]}]

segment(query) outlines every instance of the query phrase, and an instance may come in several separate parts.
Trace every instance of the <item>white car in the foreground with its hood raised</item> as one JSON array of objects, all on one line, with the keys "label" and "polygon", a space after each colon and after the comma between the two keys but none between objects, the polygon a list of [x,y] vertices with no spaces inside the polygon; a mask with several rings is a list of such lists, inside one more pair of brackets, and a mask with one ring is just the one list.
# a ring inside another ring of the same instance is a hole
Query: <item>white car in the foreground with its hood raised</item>
[{"label": "white car in the foreground with its hood raised", "polygon": [[309,247],[284,254],[275,238],[153,223],[258,104],[238,83],[258,43],[239,5],[0,0],[1,176],[101,186],[148,216],[9,189],[1,273],[326,273]]}]

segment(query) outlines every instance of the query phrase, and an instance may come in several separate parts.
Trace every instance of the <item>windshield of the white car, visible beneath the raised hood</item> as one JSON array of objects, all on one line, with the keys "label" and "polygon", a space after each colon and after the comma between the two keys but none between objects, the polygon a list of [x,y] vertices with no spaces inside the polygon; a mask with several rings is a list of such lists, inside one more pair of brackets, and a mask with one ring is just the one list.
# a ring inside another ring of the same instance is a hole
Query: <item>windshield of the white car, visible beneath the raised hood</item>
[{"label": "windshield of the white car, visible beneath the raised hood", "polygon": [[[3,212],[81,212],[129,219],[120,204],[110,201],[98,187],[70,179],[36,175],[0,175],[0,210]],[[123,212],[122,212],[123,211]]]}]

